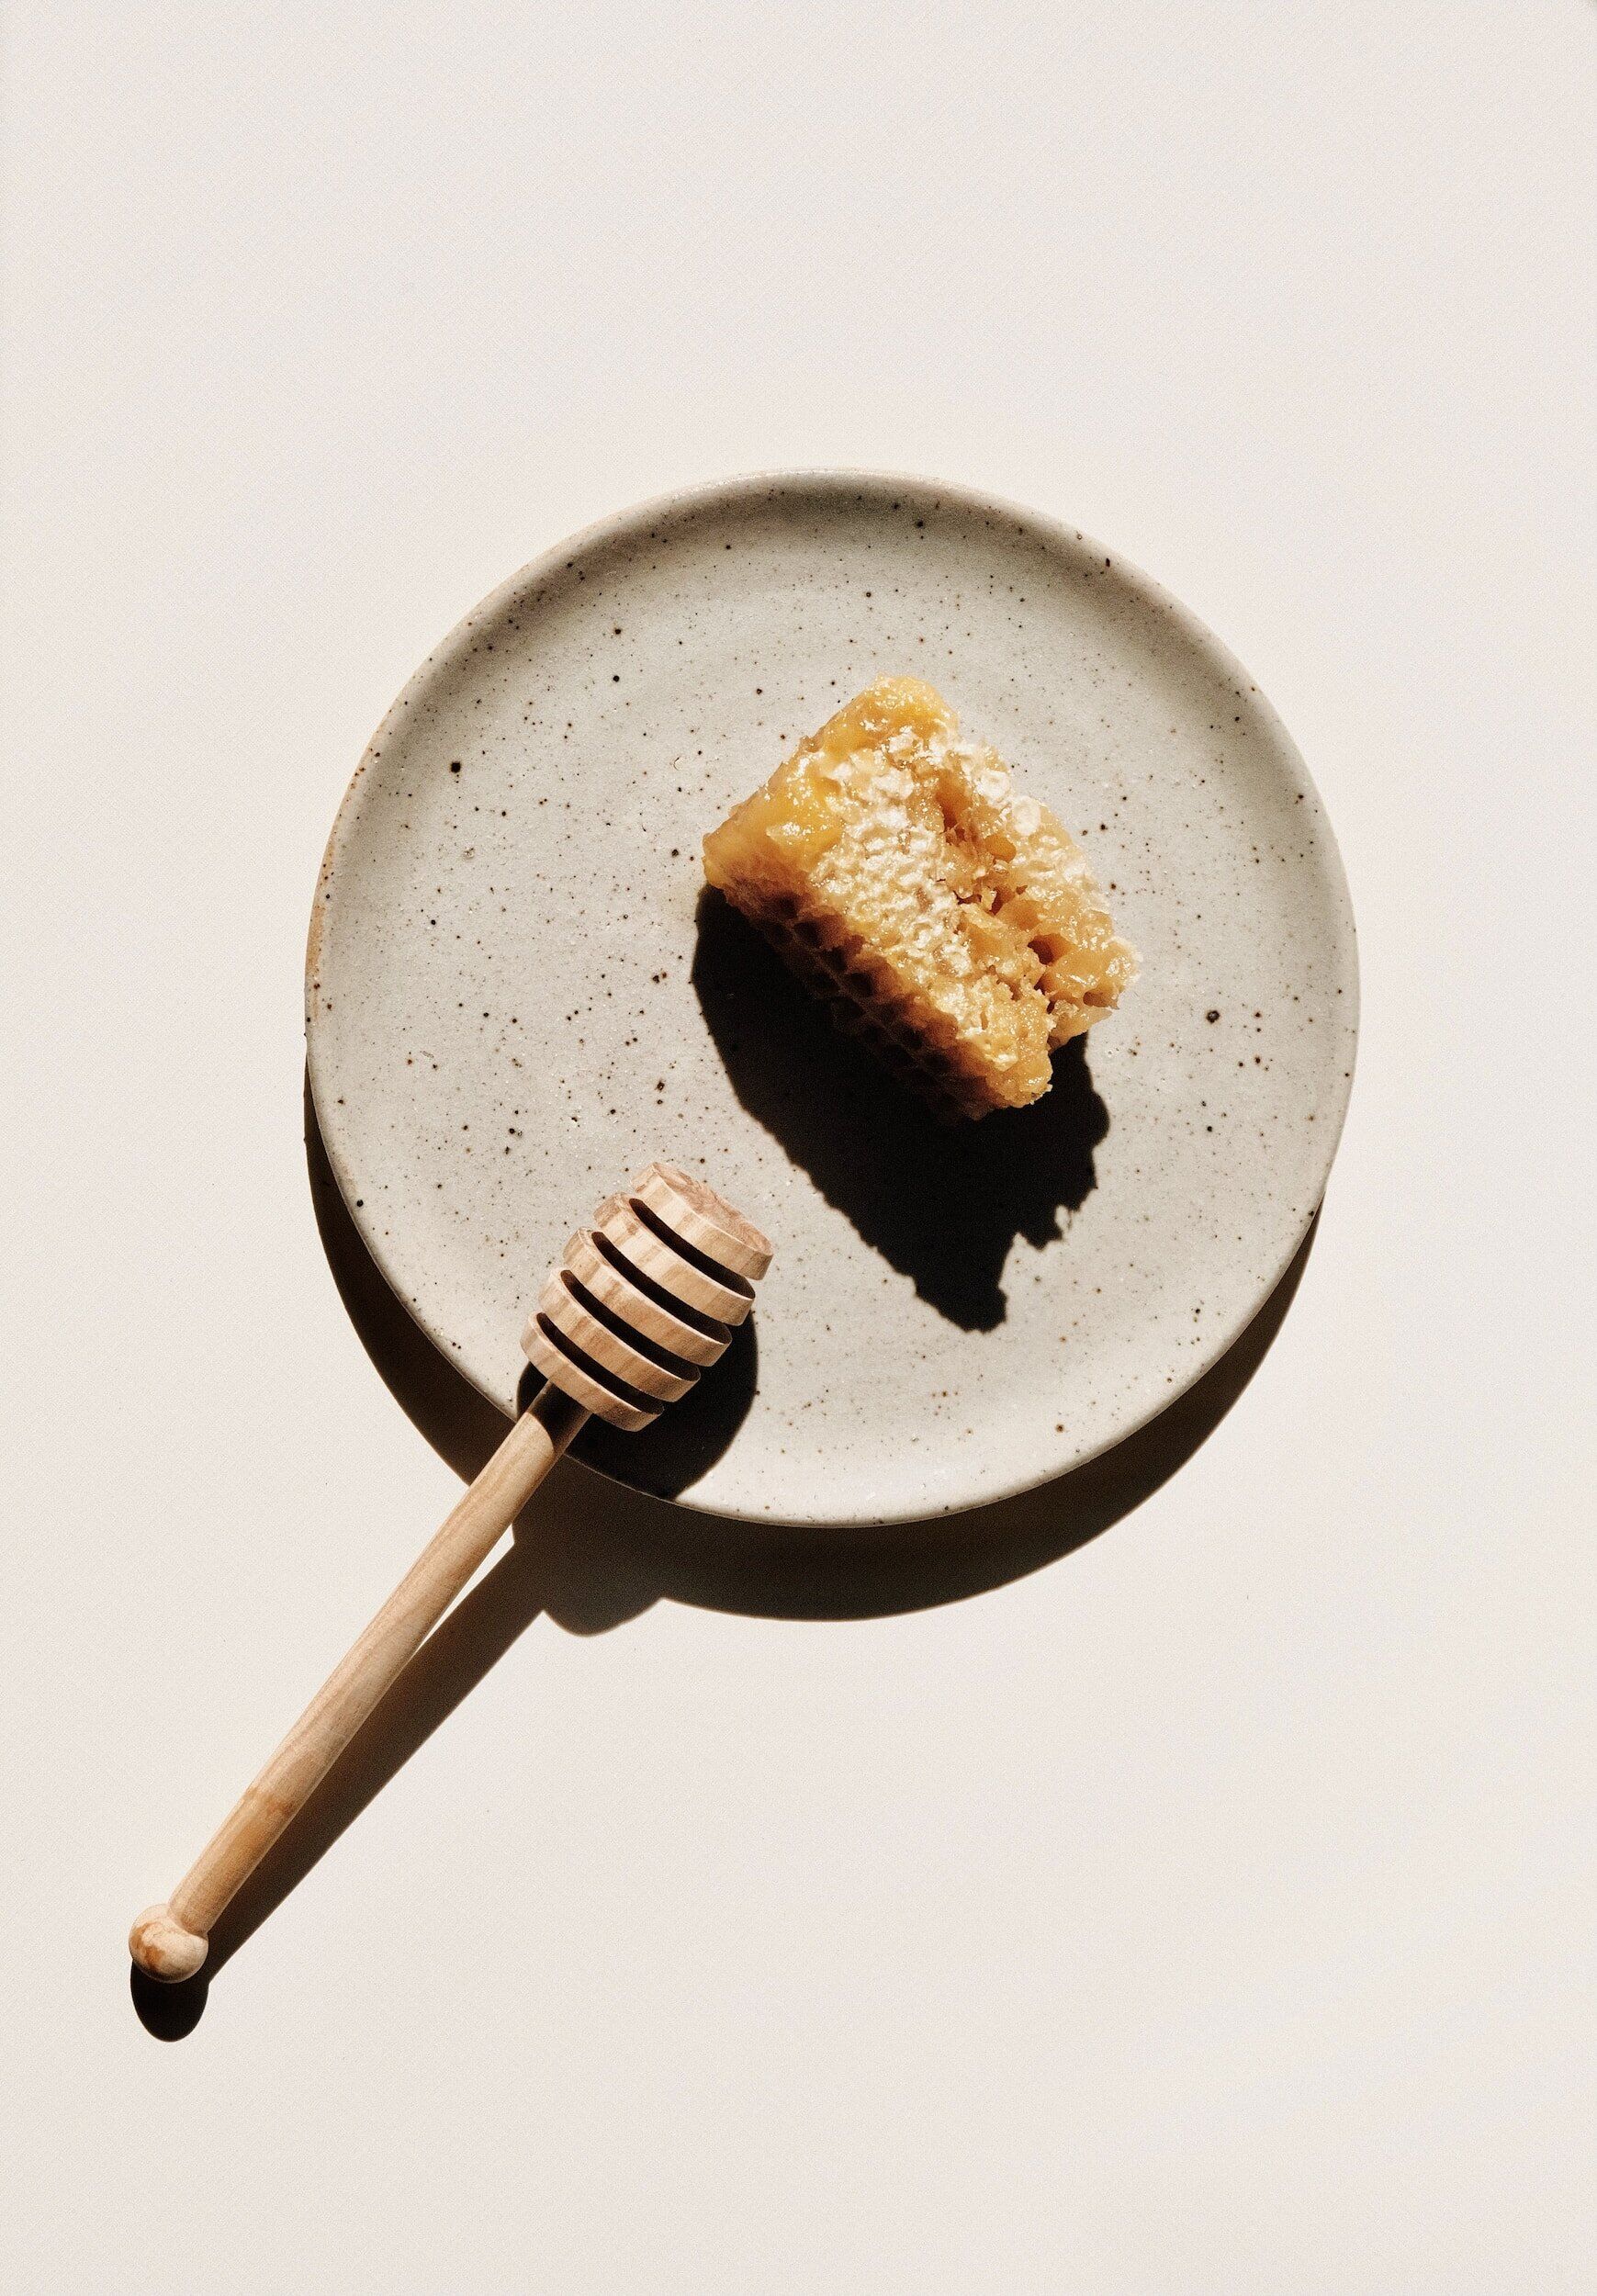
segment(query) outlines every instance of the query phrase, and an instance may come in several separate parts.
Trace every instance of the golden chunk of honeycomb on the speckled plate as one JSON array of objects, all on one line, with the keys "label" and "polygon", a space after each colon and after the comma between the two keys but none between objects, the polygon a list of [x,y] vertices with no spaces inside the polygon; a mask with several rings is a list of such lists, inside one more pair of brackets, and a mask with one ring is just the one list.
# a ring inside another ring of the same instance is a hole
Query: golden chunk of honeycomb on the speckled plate
[{"label": "golden chunk of honeycomb on the speckled plate", "polygon": [[704,838],[704,875],[943,1114],[1046,1093],[1136,955],[1088,859],[948,703],[883,677]]}]

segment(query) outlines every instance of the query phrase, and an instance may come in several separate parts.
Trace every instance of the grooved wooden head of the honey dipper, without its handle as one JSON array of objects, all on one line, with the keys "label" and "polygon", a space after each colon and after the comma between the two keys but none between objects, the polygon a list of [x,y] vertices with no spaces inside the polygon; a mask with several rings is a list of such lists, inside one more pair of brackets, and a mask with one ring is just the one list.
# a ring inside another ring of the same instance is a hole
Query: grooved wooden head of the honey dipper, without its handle
[{"label": "grooved wooden head of the honey dipper, without its handle", "polygon": [[636,1430],[686,1396],[755,1304],[771,1244],[677,1164],[649,1164],[578,1228],[521,1345],[562,1394]]}]

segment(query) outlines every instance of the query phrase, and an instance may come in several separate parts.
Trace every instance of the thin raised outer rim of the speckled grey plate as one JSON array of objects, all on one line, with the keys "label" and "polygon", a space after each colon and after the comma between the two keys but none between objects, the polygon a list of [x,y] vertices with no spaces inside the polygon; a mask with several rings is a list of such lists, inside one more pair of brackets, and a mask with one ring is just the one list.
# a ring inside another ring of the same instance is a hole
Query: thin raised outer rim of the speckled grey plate
[{"label": "thin raised outer rim of the speckled grey plate", "polygon": [[[1143,1428],[1152,1426],[1152,1421],[1159,1419],[1166,1410],[1170,1410],[1173,1403],[1177,1403],[1182,1396],[1191,1394],[1191,1389],[1237,1345],[1237,1341],[1241,1339],[1241,1334],[1253,1325],[1253,1320],[1262,1313],[1262,1309],[1273,1297],[1273,1293],[1280,1286],[1287,1267],[1296,1258],[1296,1254],[1299,1254],[1299,1249],[1303,1244],[1303,1238],[1312,1228],[1312,1224],[1319,1217],[1319,1210],[1324,1205],[1324,1194],[1326,1194],[1326,1187],[1331,1182],[1331,1169],[1335,1164],[1335,1153],[1338,1153],[1338,1146],[1342,1141],[1342,1130],[1347,1125],[1347,1109],[1351,1104],[1354,1077],[1356,1077],[1356,1070],[1358,1070],[1361,969],[1358,969],[1358,923],[1356,923],[1356,916],[1354,916],[1351,889],[1347,884],[1347,866],[1342,861],[1342,847],[1338,843],[1335,827],[1331,822],[1326,804],[1324,804],[1324,799],[1322,799],[1322,794],[1319,794],[1319,790],[1317,790],[1317,785],[1315,785],[1315,781],[1312,781],[1312,776],[1308,771],[1303,753],[1299,751],[1296,742],[1292,739],[1292,732],[1287,730],[1285,721],[1280,719],[1280,714],[1278,714],[1276,705],[1271,703],[1269,693],[1246,670],[1246,666],[1237,659],[1237,654],[1232,654],[1232,650],[1225,645],[1225,641],[1218,638],[1209,629],[1209,625],[1200,615],[1195,615],[1191,611],[1191,606],[1182,604],[1182,599],[1175,597],[1173,590],[1168,590],[1161,581],[1156,581],[1143,567],[1138,567],[1131,558],[1127,558],[1124,553],[1117,553],[1111,546],[1104,546],[1094,535],[1085,533],[1081,526],[1074,526],[1072,521],[1060,519],[1053,512],[1033,510],[1026,503],[1014,503],[1007,496],[991,494],[984,487],[973,487],[973,484],[966,484],[966,482],[959,482],[959,480],[934,480],[934,478],[925,478],[925,475],[916,475],[916,473],[874,471],[874,468],[854,468],[854,466],[817,466],[817,468],[792,466],[792,468],[776,468],[776,471],[748,471],[748,473],[739,473],[734,478],[700,480],[695,484],[672,487],[665,494],[647,496],[645,501],[631,503],[624,510],[615,510],[615,512],[606,514],[603,519],[594,519],[590,526],[583,526],[576,533],[564,535],[560,542],[555,542],[548,549],[539,551],[535,558],[528,558],[521,567],[516,567],[500,583],[496,583],[489,592],[484,592],[484,597],[480,597],[477,604],[470,606],[438,638],[438,643],[434,647],[429,647],[429,652],[422,657],[422,661],[415,666],[415,670],[406,677],[404,687],[399,689],[399,693],[395,696],[395,700],[388,705],[388,709],[383,712],[376,730],[372,732],[369,742],[365,744],[365,748],[360,753],[360,762],[356,765],[353,774],[349,776],[344,794],[342,794],[342,799],[337,804],[337,810],[333,815],[333,827],[328,829],[326,847],[324,847],[324,854],[321,854],[321,866],[317,870],[317,884],[314,884],[312,909],[310,909],[310,925],[307,925],[307,934],[305,934],[305,976],[303,976],[303,994],[305,994],[305,1079],[307,1079],[307,1086],[310,1086],[310,1097],[312,1097],[312,1107],[314,1107],[314,1116],[317,1116],[317,1130],[321,1134],[321,1146],[326,1150],[328,1169],[333,1171],[333,1180],[337,1185],[337,1192],[340,1192],[340,1196],[344,1201],[344,1210],[349,1212],[349,1219],[351,1219],[351,1224],[353,1224],[353,1228],[356,1228],[356,1233],[358,1233],[358,1238],[360,1238],[367,1256],[372,1258],[374,1267],[379,1270],[379,1274],[388,1283],[388,1290],[395,1295],[395,1300],[399,1302],[399,1306],[404,1309],[404,1313],[422,1332],[422,1336],[438,1350],[438,1355],[452,1366],[452,1371],[459,1378],[463,1378],[486,1403],[491,1403],[496,1412],[503,1414],[500,1398],[493,1396],[475,1378],[475,1373],[463,1362],[457,1359],[457,1355],[454,1355],[454,1350],[450,1345],[447,1334],[441,1332],[441,1329],[436,1329],[434,1322],[429,1320],[429,1316],[422,1313],[404,1295],[404,1290],[399,1288],[397,1274],[390,1267],[388,1256],[383,1254],[383,1240],[376,1233],[376,1226],[372,1221],[365,1221],[360,1217],[358,1194],[356,1194],[358,1187],[360,1187],[360,1182],[356,1180],[356,1176],[351,1171],[346,1146],[337,1137],[337,1123],[333,1123],[333,1125],[328,1123],[328,1102],[326,1102],[326,1095],[319,1088],[319,1079],[317,1079],[317,1068],[319,1068],[319,1063],[317,1063],[317,967],[319,967],[319,960],[321,960],[321,932],[324,932],[324,912],[326,912],[326,905],[328,905],[328,898],[330,898],[330,877],[335,875],[337,861],[340,861],[344,847],[349,845],[351,833],[353,833],[353,829],[356,829],[356,824],[360,820],[365,790],[369,788],[369,781],[374,778],[374,776],[369,776],[369,767],[381,755],[381,751],[383,751],[383,746],[388,742],[390,728],[395,728],[406,716],[406,712],[411,709],[411,705],[415,703],[415,698],[420,696],[420,691],[438,675],[438,670],[450,659],[454,659],[457,650],[470,638],[473,629],[482,620],[486,620],[491,615],[498,615],[500,608],[507,602],[512,602],[514,597],[525,595],[528,590],[537,588],[548,576],[560,574],[564,569],[567,560],[576,558],[578,553],[603,549],[603,546],[608,546],[608,544],[613,544],[613,542],[617,542],[617,540],[622,540],[622,537],[626,537],[626,535],[631,535],[631,533],[636,533],[640,528],[647,528],[649,521],[661,521],[661,519],[668,519],[668,517],[681,517],[684,512],[727,510],[727,507],[737,507],[739,501],[764,501],[773,491],[799,489],[799,487],[808,489],[812,494],[815,491],[821,491],[821,494],[849,494],[849,491],[858,491],[858,494],[897,494],[899,498],[904,498],[904,496],[918,496],[918,498],[925,498],[929,505],[936,505],[936,507],[957,507],[957,510],[964,510],[964,512],[975,512],[975,514],[982,514],[982,517],[1003,519],[1005,523],[1014,523],[1021,533],[1035,533],[1035,535],[1039,535],[1044,542],[1049,542],[1058,551],[1065,551],[1067,556],[1078,556],[1078,553],[1081,556],[1097,556],[1097,558],[1104,558],[1106,563],[1111,563],[1115,567],[1115,572],[1120,574],[1120,581],[1127,588],[1131,588],[1147,606],[1152,606],[1154,611],[1163,613],[1177,627],[1177,631],[1198,652],[1207,654],[1216,664],[1216,668],[1221,668],[1228,677],[1241,680],[1248,687],[1251,698],[1257,705],[1257,709],[1260,709],[1260,714],[1262,714],[1262,719],[1264,719],[1264,723],[1267,723],[1267,728],[1269,728],[1269,732],[1271,732],[1271,737],[1276,742],[1276,751],[1278,751],[1278,758],[1280,758],[1283,767],[1290,771],[1290,776],[1294,778],[1296,788],[1306,797],[1312,797],[1312,801],[1317,806],[1319,829],[1322,829],[1322,866],[1326,868],[1326,875],[1331,879],[1331,889],[1335,893],[1335,907],[1340,909],[1340,921],[1342,921],[1345,941],[1347,941],[1347,978],[1340,985],[1347,992],[1349,1061],[1347,1061],[1347,1077],[1342,1081],[1342,1091],[1340,1091],[1340,1097],[1338,1097],[1338,1104],[1335,1104],[1335,1111],[1333,1111],[1333,1120],[1324,1130],[1324,1139],[1326,1139],[1324,1178],[1319,1180],[1319,1189],[1315,1194],[1315,1201],[1308,1205],[1308,1210],[1301,1215],[1301,1219],[1292,1228],[1292,1235],[1290,1235],[1287,1247],[1283,1249],[1283,1254],[1278,1258],[1278,1265],[1269,1272],[1267,1281],[1257,1288],[1257,1295],[1253,1297],[1253,1302],[1248,1304],[1248,1309],[1234,1322],[1228,1322],[1223,1329],[1216,1329],[1216,1334],[1212,1336],[1209,1345],[1205,1345],[1200,1352],[1193,1352],[1189,1359],[1184,1359],[1184,1366],[1182,1366],[1184,1375],[1179,1378],[1179,1382],[1175,1387],[1166,1389],[1161,1396],[1154,1396],[1152,1403],[1150,1403],[1150,1407],[1145,1412],[1140,1412],[1134,1419],[1127,1419],[1111,1435],[1106,1435],[1099,1442],[1094,1442],[1090,1449],[1076,1451],[1069,1458],[1069,1463],[1062,1465],[1062,1467],[1053,1467],[1053,1469],[1046,1469],[1042,1474],[1019,1474],[1014,1479],[1005,1479],[1000,1483],[994,1483],[991,1488],[984,1488],[980,1497],[955,1499],[948,1506],[938,1506],[938,1508],[929,1508],[929,1511],[922,1508],[922,1511],[913,1511],[913,1513],[911,1511],[904,1511],[904,1513],[872,1511],[872,1513],[851,1513],[851,1515],[771,1515],[771,1513],[755,1513],[755,1511],[750,1511],[746,1506],[725,1506],[725,1504],[707,1502],[707,1499],[698,1497],[693,1488],[681,1490],[681,1492],[670,1495],[670,1497],[659,1495],[659,1492],[649,1492],[649,1497],[659,1497],[663,1506],[684,1506],[684,1508],[688,1508],[693,1513],[716,1515],[716,1518],[730,1520],[730,1522],[748,1522],[748,1525],[764,1525],[764,1527],[776,1527],[776,1525],[810,1525],[810,1527],[821,1527],[821,1529],[842,1529],[842,1531],[849,1531],[849,1529],[874,1529],[874,1527],[893,1525],[893,1522],[943,1522],[950,1515],[980,1513],[982,1508],[998,1506],[1005,1499],[1016,1499],[1023,1492],[1044,1490],[1051,1483],[1058,1483],[1065,1476],[1074,1474],[1078,1467],[1085,1467],[1092,1460],[1104,1458],[1104,1453],[1117,1449],[1122,1442],[1129,1442]],[[574,1217],[581,1217],[581,1215],[574,1215]],[[603,1467],[590,1465],[587,1460],[578,1460],[578,1465],[583,1465],[590,1474],[599,1474],[606,1481],[620,1483],[624,1490],[642,1492],[642,1486],[631,1483],[631,1481],[626,1481],[622,1476],[613,1476]]]}]

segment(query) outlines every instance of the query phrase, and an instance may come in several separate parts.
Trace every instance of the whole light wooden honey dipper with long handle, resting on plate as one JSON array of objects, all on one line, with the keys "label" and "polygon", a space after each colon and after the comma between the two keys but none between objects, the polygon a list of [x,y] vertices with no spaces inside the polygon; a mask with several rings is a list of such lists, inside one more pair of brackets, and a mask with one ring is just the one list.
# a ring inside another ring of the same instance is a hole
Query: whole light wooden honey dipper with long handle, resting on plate
[{"label": "whole light wooden honey dipper with long handle, resting on plate", "polygon": [[140,1913],[128,1949],[177,1984],[289,1818],[333,1768],[388,1685],[486,1561],[590,1414],[647,1428],[714,1364],[755,1304],[771,1244],[702,1180],[649,1164],[594,1212],[548,1277],[523,1334],[546,1387],[514,1424],[443,1529],[314,1694],[262,1775],[184,1874]]}]

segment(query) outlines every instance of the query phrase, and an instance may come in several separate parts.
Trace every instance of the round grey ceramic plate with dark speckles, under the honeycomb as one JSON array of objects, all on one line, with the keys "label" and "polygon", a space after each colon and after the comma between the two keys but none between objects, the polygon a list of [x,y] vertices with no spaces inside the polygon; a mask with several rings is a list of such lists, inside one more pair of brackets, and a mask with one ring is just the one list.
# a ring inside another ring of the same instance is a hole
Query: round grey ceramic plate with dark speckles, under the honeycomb
[{"label": "round grey ceramic plate with dark speckles, under the honeycomb", "polygon": [[[720,902],[700,838],[883,673],[1076,829],[1143,976],[1053,1091],[936,1130]],[[307,962],[340,1187],[512,1410],[528,1304],[654,1155],[776,1242],[750,1334],[606,1472],[748,1518],[945,1513],[1159,1412],[1264,1302],[1347,1107],[1356,960],[1248,675],[1113,551],[860,473],[624,512],[415,673],[337,815]]]}]

